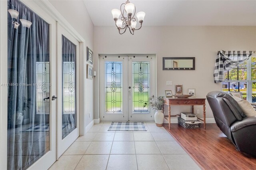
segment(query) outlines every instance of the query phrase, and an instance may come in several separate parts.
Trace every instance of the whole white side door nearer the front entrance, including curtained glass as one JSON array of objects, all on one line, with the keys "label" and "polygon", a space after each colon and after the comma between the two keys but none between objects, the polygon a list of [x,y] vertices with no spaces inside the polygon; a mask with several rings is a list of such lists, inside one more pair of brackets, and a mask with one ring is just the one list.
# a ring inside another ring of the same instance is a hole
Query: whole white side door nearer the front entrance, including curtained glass
[{"label": "whole white side door nearer the front entrance, including curtained glass", "polygon": [[58,158],[79,136],[79,42],[58,27]]}]

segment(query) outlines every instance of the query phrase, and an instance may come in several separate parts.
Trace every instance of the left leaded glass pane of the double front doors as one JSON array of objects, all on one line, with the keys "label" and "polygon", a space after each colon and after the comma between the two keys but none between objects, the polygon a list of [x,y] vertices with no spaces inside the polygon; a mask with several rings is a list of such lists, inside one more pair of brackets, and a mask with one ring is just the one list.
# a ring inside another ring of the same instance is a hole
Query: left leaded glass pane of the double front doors
[{"label": "left leaded glass pane of the double front doors", "polygon": [[120,61],[105,62],[105,113],[122,114],[122,67]]}]

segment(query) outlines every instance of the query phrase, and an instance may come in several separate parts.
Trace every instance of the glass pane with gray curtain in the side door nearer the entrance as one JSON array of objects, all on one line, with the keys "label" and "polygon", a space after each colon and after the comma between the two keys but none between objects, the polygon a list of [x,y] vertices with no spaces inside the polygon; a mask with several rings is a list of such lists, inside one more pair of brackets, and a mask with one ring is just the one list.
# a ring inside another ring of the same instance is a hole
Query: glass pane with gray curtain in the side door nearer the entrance
[{"label": "glass pane with gray curtain in the side door nearer the entrance", "polygon": [[62,139],[76,128],[76,45],[62,36]]}]

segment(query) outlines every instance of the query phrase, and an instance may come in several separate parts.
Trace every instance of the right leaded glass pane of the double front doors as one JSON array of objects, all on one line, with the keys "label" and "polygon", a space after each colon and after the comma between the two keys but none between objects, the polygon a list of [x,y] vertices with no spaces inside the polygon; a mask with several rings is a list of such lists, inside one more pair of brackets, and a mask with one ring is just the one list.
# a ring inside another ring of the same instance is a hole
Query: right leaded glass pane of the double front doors
[{"label": "right leaded glass pane of the double front doors", "polygon": [[132,113],[150,113],[150,61],[132,62]]}]

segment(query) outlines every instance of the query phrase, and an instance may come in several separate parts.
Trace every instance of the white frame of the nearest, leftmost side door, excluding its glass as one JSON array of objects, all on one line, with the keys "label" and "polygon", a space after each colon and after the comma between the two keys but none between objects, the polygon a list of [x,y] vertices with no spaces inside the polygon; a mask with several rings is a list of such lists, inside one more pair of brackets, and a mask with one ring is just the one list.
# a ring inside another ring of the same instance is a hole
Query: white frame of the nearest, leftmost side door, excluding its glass
[{"label": "white frame of the nearest, leftmost side door, excluding its glass", "polygon": [[[56,95],[56,20],[54,20],[34,1],[20,0],[28,8],[33,10],[38,16],[50,24],[50,97]],[[1,56],[7,56],[7,0],[0,1],[0,30],[1,30]],[[3,50],[4,49],[4,50]],[[7,59],[1,57],[0,60],[1,83],[7,83],[8,68]],[[0,90],[1,113],[7,113],[7,87],[2,86]],[[3,102],[4,101],[4,102]],[[4,105],[4,106],[2,106]],[[50,168],[56,161],[56,102],[50,102],[50,151],[40,157],[28,169],[39,170],[42,167]],[[0,128],[0,169],[7,169],[7,114],[1,114]]]}]

